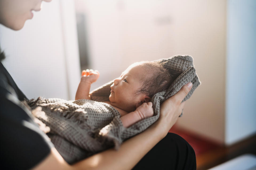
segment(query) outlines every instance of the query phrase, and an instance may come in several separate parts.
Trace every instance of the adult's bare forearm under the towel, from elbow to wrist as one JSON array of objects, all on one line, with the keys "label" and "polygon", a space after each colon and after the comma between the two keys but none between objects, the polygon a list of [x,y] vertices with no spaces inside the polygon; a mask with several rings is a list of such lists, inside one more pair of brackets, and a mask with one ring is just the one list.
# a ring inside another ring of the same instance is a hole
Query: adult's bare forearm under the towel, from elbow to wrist
[{"label": "adult's bare forearm under the towel, from elbow to wrist", "polygon": [[109,149],[73,165],[76,169],[131,169],[164,136],[157,122],[123,142],[119,150]]}]

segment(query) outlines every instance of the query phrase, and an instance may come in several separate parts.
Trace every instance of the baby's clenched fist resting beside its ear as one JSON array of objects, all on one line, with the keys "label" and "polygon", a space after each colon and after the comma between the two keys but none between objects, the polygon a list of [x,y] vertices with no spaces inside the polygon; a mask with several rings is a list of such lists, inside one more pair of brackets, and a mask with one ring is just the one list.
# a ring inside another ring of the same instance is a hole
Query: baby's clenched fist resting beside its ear
[{"label": "baby's clenched fist resting beside its ear", "polygon": [[153,104],[152,102],[142,103],[142,105],[140,105],[134,112],[136,112],[141,119],[153,116]]}]

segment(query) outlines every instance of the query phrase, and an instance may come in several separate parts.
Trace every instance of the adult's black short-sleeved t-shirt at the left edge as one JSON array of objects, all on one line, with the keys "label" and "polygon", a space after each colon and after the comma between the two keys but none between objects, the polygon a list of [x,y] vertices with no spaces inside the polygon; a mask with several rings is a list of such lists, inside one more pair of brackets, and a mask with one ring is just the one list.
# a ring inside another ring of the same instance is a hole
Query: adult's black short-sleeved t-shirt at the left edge
[{"label": "adult's black short-sleeved t-shirt at the left edge", "polygon": [[30,169],[53,147],[21,102],[26,96],[0,62],[0,167]]}]

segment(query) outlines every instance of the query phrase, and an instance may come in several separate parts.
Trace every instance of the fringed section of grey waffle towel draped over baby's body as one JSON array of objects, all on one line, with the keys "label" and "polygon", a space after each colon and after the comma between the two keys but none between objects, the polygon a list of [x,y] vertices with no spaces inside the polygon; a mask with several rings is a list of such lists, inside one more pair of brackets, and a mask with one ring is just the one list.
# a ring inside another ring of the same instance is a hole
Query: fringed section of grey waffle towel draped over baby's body
[{"label": "fringed section of grey waffle towel draped over baby's body", "polygon": [[50,127],[48,137],[70,164],[107,148],[118,147],[122,142],[119,137],[124,129],[121,115],[109,104],[41,97],[28,103],[33,115]]}]

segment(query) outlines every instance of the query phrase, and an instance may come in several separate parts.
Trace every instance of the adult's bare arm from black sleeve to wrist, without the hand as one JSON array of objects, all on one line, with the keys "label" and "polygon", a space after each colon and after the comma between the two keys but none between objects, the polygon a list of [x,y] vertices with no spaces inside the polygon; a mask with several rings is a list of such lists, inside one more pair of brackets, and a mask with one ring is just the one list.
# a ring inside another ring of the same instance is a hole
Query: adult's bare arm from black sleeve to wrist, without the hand
[{"label": "adult's bare arm from black sleeve to wrist, without the hand", "polygon": [[123,142],[119,150],[109,149],[73,165],[67,164],[59,152],[52,148],[47,158],[33,169],[131,169],[164,137],[161,126],[158,126],[157,122],[142,133]]}]

